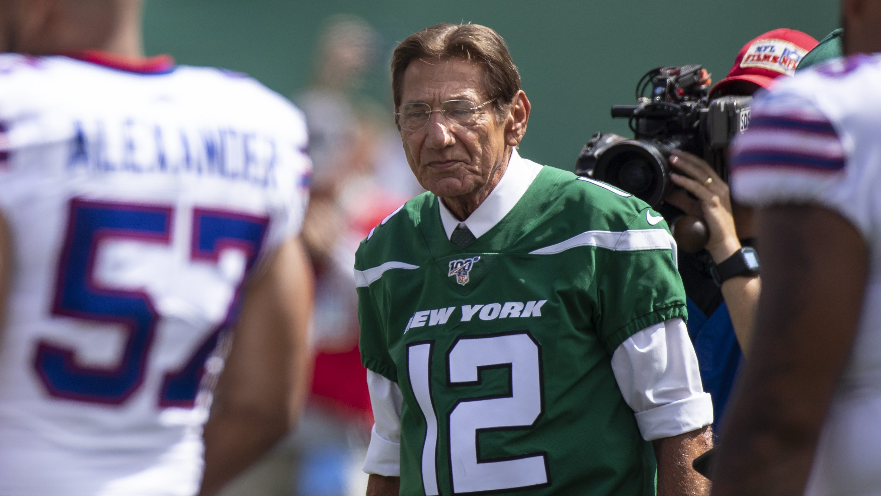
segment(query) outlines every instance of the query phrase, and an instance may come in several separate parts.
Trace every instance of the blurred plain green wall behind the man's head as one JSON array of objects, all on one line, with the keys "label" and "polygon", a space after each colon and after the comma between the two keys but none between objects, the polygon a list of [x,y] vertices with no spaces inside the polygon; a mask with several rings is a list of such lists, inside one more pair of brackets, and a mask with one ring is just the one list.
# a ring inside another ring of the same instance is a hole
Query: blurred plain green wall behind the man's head
[{"label": "blurred plain green wall behind the man's head", "polygon": [[646,70],[701,63],[718,81],[760,33],[789,27],[819,40],[838,25],[834,0],[148,0],[146,48],[241,70],[291,96],[309,83],[325,20],[343,12],[381,34],[383,53],[361,93],[387,107],[389,119],[396,41],[444,21],[498,31],[532,102],[522,154],[569,169],[594,132],[625,133],[609,107],[633,103]]}]

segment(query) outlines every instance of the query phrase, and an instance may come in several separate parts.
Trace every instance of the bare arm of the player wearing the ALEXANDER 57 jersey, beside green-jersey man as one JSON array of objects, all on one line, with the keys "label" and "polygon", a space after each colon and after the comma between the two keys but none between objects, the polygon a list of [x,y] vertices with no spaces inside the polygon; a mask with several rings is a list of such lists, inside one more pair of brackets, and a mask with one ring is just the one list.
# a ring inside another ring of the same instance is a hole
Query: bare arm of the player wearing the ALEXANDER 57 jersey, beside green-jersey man
[{"label": "bare arm of the player wearing the ALEXANDER 57 jersey, beside green-jersey man", "polygon": [[288,433],[306,398],[312,269],[288,241],[248,285],[205,425],[201,496],[217,493]]}]

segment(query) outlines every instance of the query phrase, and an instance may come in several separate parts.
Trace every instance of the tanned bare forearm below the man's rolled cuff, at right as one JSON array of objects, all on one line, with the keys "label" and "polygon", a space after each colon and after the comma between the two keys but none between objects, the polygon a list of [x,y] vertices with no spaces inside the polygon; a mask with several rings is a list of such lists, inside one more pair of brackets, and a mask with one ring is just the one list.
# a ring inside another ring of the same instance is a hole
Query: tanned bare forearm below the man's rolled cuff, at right
[{"label": "tanned bare forearm below the man's rolled cuff, at right", "polygon": [[692,461],[713,448],[709,426],[652,443],[658,461],[658,496],[709,494],[710,481],[692,469]]}]

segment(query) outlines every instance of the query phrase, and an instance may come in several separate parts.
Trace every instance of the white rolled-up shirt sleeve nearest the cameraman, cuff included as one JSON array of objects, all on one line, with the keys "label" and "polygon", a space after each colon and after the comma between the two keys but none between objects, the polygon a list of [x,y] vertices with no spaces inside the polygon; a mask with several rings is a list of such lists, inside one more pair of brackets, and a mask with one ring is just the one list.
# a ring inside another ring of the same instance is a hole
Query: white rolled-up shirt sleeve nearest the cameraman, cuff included
[{"label": "white rolled-up shirt sleeve nearest the cameraman, cuff included", "polygon": [[713,423],[713,402],[700,382],[698,357],[682,319],[642,329],[618,346],[611,370],[645,440]]}]

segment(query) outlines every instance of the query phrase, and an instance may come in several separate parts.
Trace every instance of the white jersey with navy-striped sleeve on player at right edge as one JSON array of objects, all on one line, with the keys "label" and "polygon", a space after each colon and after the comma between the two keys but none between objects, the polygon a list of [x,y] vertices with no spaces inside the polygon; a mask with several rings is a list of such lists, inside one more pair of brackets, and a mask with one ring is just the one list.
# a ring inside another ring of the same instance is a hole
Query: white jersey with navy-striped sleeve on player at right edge
[{"label": "white jersey with navy-striped sleeve on player at right edge", "polygon": [[739,202],[822,205],[847,218],[870,248],[856,341],[806,494],[881,494],[881,56],[851,56],[781,80],[755,101],[731,162]]}]

